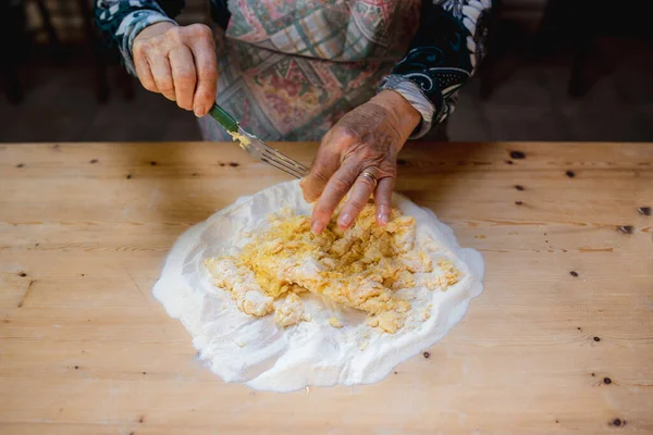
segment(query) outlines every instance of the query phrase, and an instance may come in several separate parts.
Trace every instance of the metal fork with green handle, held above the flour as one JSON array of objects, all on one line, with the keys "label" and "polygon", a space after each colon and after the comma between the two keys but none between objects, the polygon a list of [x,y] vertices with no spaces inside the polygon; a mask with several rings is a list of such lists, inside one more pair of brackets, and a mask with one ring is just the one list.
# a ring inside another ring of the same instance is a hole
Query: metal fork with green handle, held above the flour
[{"label": "metal fork with green handle, held above the flour", "polygon": [[234,140],[241,141],[241,148],[247,151],[249,156],[268,163],[295,178],[303,178],[308,174],[308,167],[289,157],[284,156],[274,148],[267,146],[251,133],[245,132],[243,127],[241,127],[241,124],[238,124],[238,122],[220,105],[213,104],[209,114],[234,137]]}]

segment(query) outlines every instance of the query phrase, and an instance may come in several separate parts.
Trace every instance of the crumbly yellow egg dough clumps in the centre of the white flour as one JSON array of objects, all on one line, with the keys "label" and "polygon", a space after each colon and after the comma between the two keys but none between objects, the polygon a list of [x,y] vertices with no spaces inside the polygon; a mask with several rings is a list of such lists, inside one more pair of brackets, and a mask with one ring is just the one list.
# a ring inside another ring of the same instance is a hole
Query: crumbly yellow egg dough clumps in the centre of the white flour
[{"label": "crumbly yellow egg dough clumps in the centre of the white flour", "polygon": [[[286,209],[270,216],[270,227],[256,234],[241,252],[210,258],[206,265],[215,286],[229,291],[246,314],[261,318],[274,312],[280,326],[310,322],[301,302],[301,294],[310,291],[367,313],[367,325],[390,334],[404,326],[411,289],[421,285],[444,290],[461,276],[449,261],[442,259],[434,265],[416,249],[415,219],[398,210],[393,210],[385,226],[377,225],[372,204],[347,231],[338,228],[336,220],[337,214],[315,235],[308,215]],[[274,307],[279,298],[284,299]],[[343,326],[334,316],[329,324]]]}]

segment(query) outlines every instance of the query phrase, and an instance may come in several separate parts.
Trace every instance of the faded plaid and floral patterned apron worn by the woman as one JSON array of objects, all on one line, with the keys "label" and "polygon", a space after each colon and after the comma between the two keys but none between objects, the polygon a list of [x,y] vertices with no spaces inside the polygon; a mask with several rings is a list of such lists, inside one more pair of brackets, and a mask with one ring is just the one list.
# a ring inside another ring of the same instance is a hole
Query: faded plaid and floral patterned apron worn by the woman
[{"label": "faded plaid and floral patterned apron worn by the woman", "polygon": [[[215,101],[263,140],[320,140],[402,59],[418,0],[234,0]],[[206,140],[231,137],[209,116]]]}]

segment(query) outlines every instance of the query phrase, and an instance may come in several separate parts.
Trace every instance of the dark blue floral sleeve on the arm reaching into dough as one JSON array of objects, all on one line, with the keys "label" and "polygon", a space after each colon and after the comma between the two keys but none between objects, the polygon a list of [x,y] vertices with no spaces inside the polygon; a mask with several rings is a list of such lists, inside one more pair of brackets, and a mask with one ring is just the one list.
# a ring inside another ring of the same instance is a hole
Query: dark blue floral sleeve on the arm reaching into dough
[{"label": "dark blue floral sleeve on the arm reaching into dough", "polygon": [[454,111],[458,90],[485,54],[491,9],[491,0],[423,1],[408,53],[379,87],[402,94],[422,114],[414,138]]}]

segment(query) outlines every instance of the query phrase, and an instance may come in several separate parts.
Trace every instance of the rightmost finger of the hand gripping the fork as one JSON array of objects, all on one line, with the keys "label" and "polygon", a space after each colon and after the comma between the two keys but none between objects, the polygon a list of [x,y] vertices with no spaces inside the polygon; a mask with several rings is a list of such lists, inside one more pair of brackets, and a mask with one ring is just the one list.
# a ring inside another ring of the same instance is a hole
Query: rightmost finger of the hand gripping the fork
[{"label": "rightmost finger of the hand gripping the fork", "polygon": [[197,88],[193,100],[196,116],[206,115],[213,102],[218,86],[218,59],[212,37],[199,38],[190,45],[197,70]]}]

